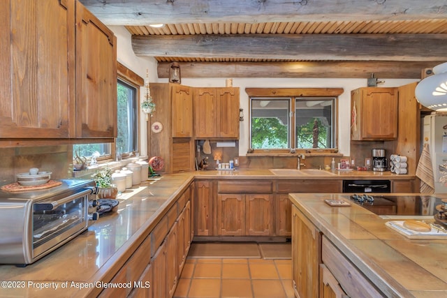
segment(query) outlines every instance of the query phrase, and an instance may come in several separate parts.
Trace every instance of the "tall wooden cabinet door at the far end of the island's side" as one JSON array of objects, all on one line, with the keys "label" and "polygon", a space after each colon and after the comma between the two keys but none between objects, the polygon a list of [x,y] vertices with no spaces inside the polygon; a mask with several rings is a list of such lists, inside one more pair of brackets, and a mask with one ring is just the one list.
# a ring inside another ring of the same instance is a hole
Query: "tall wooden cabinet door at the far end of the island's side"
[{"label": "tall wooden cabinet door at the far end of the island's side", "polygon": [[321,232],[293,206],[292,277],[295,296],[318,297],[320,263]]}]

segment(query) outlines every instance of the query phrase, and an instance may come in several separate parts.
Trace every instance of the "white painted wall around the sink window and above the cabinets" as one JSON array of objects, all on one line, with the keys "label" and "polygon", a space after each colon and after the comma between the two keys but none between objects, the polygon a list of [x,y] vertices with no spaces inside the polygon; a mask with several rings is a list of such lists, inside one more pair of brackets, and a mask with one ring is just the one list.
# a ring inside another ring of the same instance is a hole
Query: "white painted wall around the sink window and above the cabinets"
[{"label": "white painted wall around the sink window and above the cabinets", "polygon": [[[118,38],[118,61],[133,70],[142,77],[146,77],[146,69],[149,69],[150,82],[168,82],[168,79],[159,79],[156,75],[156,60],[152,58],[140,58],[133,54],[131,46],[131,34],[124,27],[110,27]],[[384,80],[379,87],[399,87],[405,84],[419,81],[396,80],[379,77]],[[182,78],[182,84],[191,87],[225,87],[226,78]],[[306,78],[233,78],[233,87],[240,87],[240,106],[244,109],[244,121],[240,123],[239,155],[245,156],[249,149],[249,98],[245,88],[343,88],[344,93],[339,96],[339,152],[344,156],[350,154],[350,120],[351,120],[351,90],[367,87],[367,79],[306,79]],[[142,92],[144,96],[144,92]],[[379,125],[379,124],[378,124]],[[141,154],[147,153],[146,125],[142,115]]]}]

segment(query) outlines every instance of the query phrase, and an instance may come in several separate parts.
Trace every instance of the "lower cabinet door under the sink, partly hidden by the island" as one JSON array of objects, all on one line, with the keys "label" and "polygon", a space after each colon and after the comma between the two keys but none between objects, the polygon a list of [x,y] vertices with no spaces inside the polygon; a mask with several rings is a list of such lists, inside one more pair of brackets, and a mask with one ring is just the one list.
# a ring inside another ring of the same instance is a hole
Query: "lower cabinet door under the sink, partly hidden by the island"
[{"label": "lower cabinet door under the sink, partly hidden by the island", "polygon": [[288,194],[276,195],[274,200],[275,232],[277,236],[291,236],[292,234],[292,202]]}]

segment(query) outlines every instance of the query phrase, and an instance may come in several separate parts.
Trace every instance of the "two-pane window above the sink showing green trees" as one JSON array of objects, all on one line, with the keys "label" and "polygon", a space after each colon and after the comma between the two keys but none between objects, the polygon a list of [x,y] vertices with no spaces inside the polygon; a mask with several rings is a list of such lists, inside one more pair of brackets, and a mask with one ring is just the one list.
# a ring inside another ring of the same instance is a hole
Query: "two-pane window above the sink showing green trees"
[{"label": "two-pane window above the sink showing green trees", "polygon": [[332,149],[335,97],[250,98],[251,149]]}]

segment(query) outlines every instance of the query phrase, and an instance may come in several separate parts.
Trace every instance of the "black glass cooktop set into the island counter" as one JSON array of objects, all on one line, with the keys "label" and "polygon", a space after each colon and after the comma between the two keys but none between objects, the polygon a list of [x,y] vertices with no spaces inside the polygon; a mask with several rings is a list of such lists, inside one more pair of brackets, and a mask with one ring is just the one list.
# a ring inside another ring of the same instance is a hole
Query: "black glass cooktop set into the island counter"
[{"label": "black glass cooktop set into the island counter", "polygon": [[377,215],[431,216],[437,214],[441,199],[433,195],[354,194],[351,202]]}]

